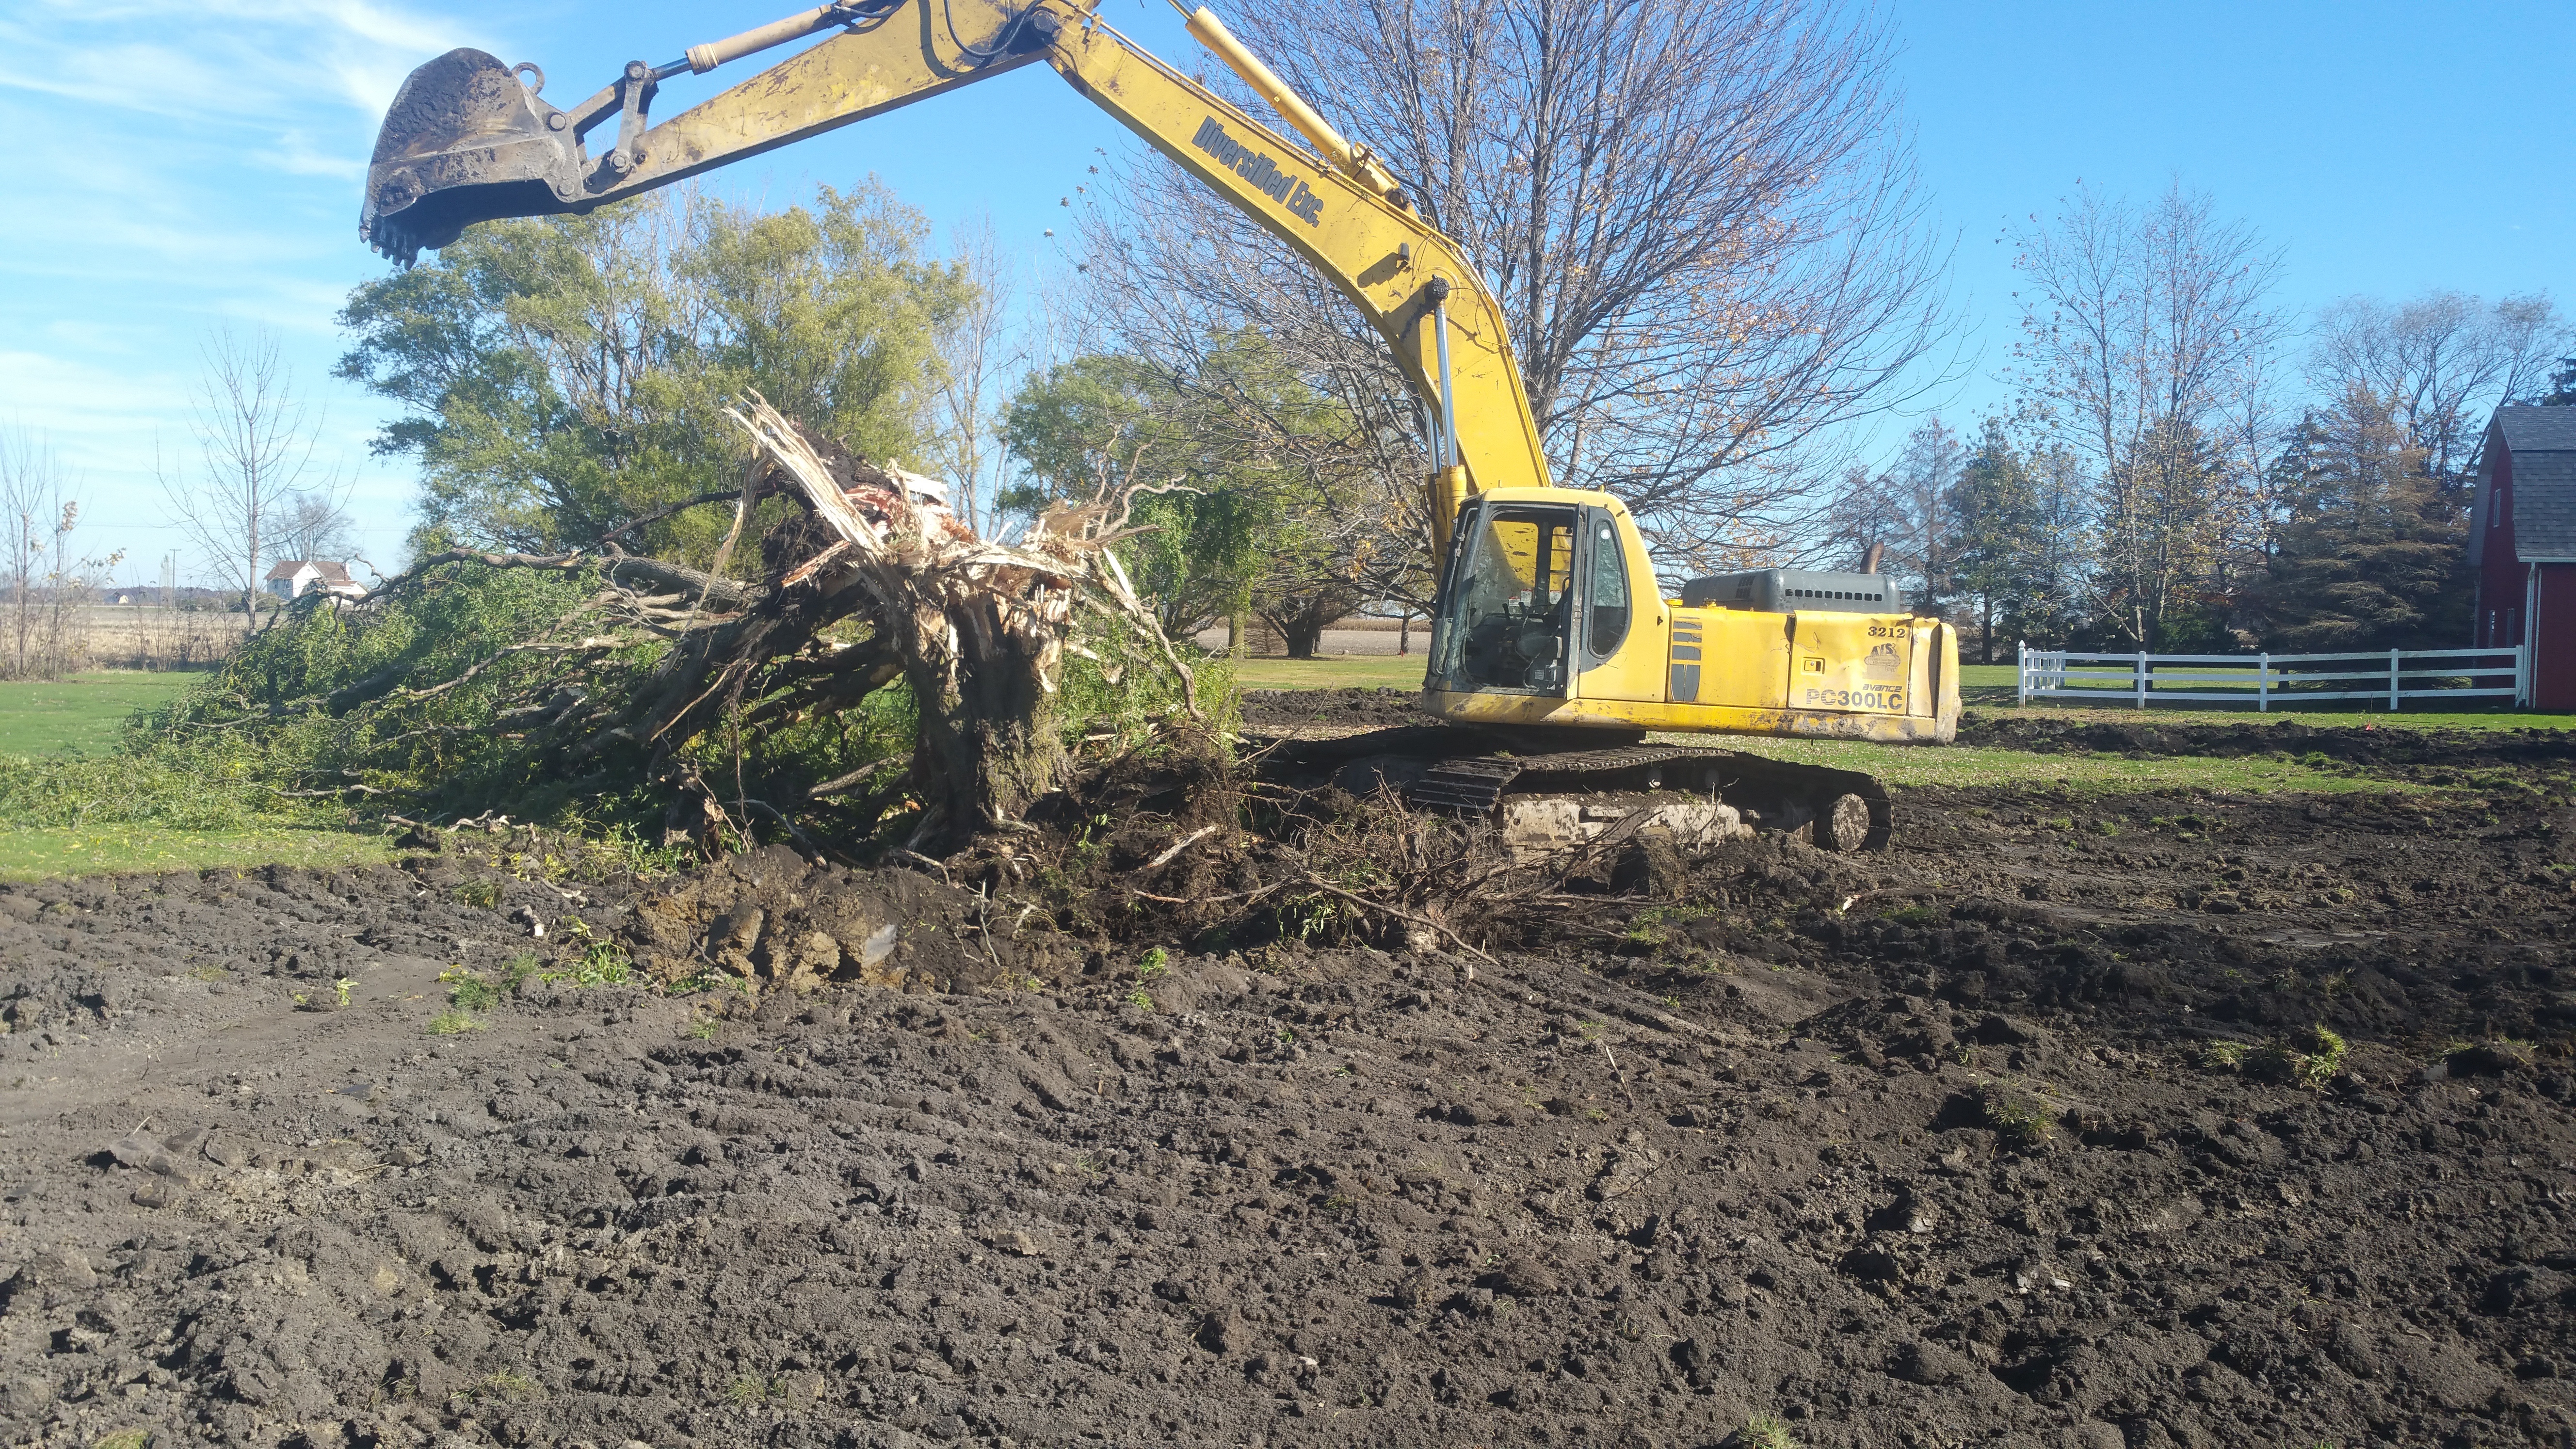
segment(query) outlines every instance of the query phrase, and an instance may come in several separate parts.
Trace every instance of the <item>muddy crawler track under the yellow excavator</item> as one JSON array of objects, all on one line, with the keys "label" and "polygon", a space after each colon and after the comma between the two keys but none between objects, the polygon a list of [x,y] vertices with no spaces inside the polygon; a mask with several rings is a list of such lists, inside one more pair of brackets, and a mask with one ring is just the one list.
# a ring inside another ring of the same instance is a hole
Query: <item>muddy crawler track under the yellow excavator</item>
[{"label": "muddy crawler track under the yellow excavator", "polygon": [[[1414,810],[1466,820],[1504,820],[1517,802],[1566,802],[1571,812],[1558,812],[1571,822],[1566,830],[1587,835],[1592,828],[1633,833],[1656,797],[1718,804],[1731,815],[1726,830],[1790,833],[1824,851],[1883,851],[1896,830],[1886,786],[1860,771],[1695,745],[1564,748],[1571,740],[1597,743],[1600,735],[1401,724],[1332,740],[1273,740],[1267,750],[1275,763],[1301,771],[1376,771],[1373,779],[1399,786]],[[1584,810],[1587,797],[1628,804]]]}]

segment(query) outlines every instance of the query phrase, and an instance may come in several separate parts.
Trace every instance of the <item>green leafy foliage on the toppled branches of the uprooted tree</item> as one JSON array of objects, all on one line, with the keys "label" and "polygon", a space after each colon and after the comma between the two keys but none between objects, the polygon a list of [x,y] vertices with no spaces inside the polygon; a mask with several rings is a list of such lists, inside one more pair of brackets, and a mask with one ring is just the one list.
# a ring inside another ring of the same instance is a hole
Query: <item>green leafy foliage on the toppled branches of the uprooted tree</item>
[{"label": "green leafy foliage on the toppled branches of the uprooted tree", "polygon": [[[139,714],[121,758],[0,758],[0,820],[337,822],[361,797],[330,792],[363,786],[376,792],[363,799],[415,815],[505,810],[590,835],[657,830],[662,794],[639,779],[641,745],[613,743],[567,768],[538,735],[507,727],[513,699],[582,691],[616,704],[654,686],[665,655],[654,639],[551,650],[595,627],[582,614],[595,588],[580,575],[459,562],[366,614],[301,611],[178,701]],[[1095,688],[1082,699],[1141,719],[1157,696]],[[909,753],[912,732],[909,696],[886,688],[811,719],[708,732],[683,743],[680,758],[739,779],[755,799],[799,799],[809,784]],[[497,905],[497,884],[469,882],[459,900]]]}]

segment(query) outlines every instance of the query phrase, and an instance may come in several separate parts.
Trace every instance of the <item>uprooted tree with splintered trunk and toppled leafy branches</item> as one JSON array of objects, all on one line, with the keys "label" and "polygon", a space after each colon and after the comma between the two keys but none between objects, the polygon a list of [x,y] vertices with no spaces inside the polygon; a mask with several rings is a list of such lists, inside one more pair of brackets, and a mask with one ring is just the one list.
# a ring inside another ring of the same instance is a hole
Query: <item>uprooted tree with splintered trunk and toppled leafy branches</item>
[{"label": "uprooted tree with splintered trunk and toppled leafy branches", "polygon": [[[737,492],[562,554],[438,552],[363,601],[312,603],[162,737],[286,797],[629,822],[659,807],[665,841],[938,853],[1066,784],[1069,686],[1113,737],[1200,714],[1113,552],[1157,487],[1133,459],[997,541],[948,513],[943,485],[765,400],[726,418],[752,443]],[[788,518],[729,578],[770,498]],[[621,544],[721,503],[734,523],[711,570]]]}]

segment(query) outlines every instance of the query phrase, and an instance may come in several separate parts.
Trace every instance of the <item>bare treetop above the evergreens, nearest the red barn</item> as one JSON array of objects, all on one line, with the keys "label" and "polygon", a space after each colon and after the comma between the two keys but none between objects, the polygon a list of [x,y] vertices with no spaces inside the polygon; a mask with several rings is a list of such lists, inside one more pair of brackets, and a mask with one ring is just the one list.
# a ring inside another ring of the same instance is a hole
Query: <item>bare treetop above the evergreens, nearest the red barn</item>
[{"label": "bare treetop above the evergreens, nearest the red barn", "polygon": [[2326,397],[2380,397],[2406,446],[2421,449],[2427,474],[2465,492],[2486,413],[2540,397],[2566,340],[2566,320],[2540,294],[2494,304],[2465,291],[2398,304],[2347,297],[2318,317],[2308,369]]}]

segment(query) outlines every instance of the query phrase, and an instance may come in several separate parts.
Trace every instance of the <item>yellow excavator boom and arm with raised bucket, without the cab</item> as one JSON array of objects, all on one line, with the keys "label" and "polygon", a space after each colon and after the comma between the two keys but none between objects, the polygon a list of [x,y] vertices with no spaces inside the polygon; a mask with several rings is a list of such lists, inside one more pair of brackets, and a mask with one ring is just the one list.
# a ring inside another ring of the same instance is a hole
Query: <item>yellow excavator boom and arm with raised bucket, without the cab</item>
[{"label": "yellow excavator boom and arm with raised bucket, without the cab", "polygon": [[[667,121],[665,80],[840,31]],[[1461,503],[1494,487],[1548,487],[1538,420],[1520,387],[1502,309],[1458,245],[1404,204],[1401,186],[1255,59],[1208,10],[1190,34],[1311,144],[1301,147],[1198,80],[1154,59],[1072,0],[850,0],[788,15],[670,64],[631,62],[559,111],[531,64],[456,49],[404,80],[368,168],[361,232],[410,263],[497,217],[577,214],[657,186],[1046,62],[1182,170],[1288,242],[1370,327],[1432,418],[1435,547]],[[533,72],[533,85],[523,75]],[[587,137],[616,126],[592,152]]]}]

